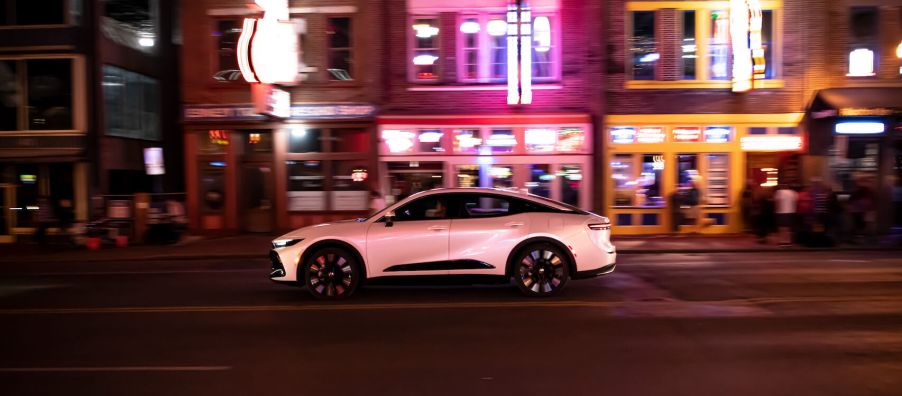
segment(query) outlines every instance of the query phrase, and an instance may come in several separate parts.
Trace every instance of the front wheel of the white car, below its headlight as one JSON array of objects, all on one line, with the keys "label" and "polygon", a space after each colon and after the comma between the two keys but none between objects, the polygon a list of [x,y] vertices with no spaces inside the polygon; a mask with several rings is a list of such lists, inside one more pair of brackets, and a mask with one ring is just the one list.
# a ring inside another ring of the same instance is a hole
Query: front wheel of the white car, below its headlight
[{"label": "front wheel of the white car, below its headlight", "polygon": [[360,284],[360,263],[351,252],[336,247],[318,249],[304,262],[304,285],[313,297],[350,297]]}]

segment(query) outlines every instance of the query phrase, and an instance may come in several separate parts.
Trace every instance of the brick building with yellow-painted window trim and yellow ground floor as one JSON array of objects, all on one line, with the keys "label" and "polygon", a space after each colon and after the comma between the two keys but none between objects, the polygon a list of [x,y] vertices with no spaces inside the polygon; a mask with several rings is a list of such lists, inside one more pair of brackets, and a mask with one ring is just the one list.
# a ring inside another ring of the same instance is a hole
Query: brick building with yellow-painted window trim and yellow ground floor
[{"label": "brick building with yellow-painted window trim and yellow ground floor", "polygon": [[[805,179],[798,124],[815,89],[808,67],[817,38],[806,27],[817,22],[810,4],[615,1],[608,7],[607,115],[599,136],[611,176],[604,206],[618,232],[688,231],[674,198],[693,182],[701,190],[701,215],[713,224],[704,232],[739,232],[747,184]],[[737,55],[743,46],[748,56]]]}]

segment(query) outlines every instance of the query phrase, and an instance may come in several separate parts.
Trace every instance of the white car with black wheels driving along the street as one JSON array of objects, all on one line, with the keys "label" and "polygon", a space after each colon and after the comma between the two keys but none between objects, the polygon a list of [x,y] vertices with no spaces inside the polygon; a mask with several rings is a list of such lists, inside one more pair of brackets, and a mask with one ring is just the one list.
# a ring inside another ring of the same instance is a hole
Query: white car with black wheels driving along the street
[{"label": "white car with black wheels driving along the street", "polygon": [[304,227],[272,242],[277,282],[317,298],[384,277],[491,275],[529,296],[614,270],[606,217],[535,195],[488,188],[424,191],[366,219]]}]

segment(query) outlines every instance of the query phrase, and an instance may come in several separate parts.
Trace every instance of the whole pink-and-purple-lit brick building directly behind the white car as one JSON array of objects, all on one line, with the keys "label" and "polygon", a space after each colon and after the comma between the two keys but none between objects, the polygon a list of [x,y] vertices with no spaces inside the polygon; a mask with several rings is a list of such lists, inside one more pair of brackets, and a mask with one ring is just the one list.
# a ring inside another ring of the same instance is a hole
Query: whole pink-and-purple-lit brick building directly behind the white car
[{"label": "whole pink-and-purple-lit brick building directly behind the white car", "polygon": [[603,3],[385,1],[377,120],[387,200],[479,186],[595,209]]}]

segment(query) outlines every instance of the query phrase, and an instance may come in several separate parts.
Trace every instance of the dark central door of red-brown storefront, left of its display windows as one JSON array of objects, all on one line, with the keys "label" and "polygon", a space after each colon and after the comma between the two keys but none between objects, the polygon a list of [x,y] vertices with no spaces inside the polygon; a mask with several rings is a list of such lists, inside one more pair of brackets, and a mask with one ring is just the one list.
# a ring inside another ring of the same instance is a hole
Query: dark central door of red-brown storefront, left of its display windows
[{"label": "dark central door of red-brown storefront, left of its display windows", "polygon": [[273,174],[268,163],[245,163],[241,169],[242,228],[247,232],[273,230]]}]

